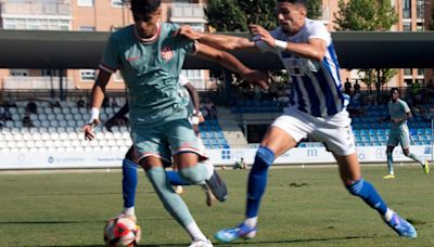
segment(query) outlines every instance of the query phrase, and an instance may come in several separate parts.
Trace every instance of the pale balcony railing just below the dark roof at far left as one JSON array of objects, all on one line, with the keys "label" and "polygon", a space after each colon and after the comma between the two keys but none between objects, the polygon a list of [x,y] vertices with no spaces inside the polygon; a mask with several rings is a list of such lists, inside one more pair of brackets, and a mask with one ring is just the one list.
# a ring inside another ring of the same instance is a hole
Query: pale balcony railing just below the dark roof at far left
[{"label": "pale balcony railing just below the dark roof at far left", "polygon": [[[63,89],[74,89],[74,81],[72,78],[62,78]],[[27,76],[13,76],[3,78],[3,89],[60,89],[59,77],[27,77]]]}]

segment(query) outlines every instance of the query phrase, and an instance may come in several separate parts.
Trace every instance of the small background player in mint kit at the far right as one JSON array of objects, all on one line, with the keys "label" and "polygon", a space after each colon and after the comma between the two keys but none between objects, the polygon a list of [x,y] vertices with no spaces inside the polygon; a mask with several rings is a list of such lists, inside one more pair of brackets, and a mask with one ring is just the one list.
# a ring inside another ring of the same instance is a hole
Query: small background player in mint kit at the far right
[{"label": "small background player in mint kit at the far right", "polygon": [[422,166],[423,171],[427,174],[430,172],[427,160],[423,162],[418,158],[418,156],[410,152],[410,131],[408,130],[407,120],[410,119],[412,115],[407,102],[399,99],[399,90],[397,88],[391,89],[391,102],[388,103],[387,108],[390,116],[383,120],[391,120],[392,128],[386,150],[388,174],[384,176],[383,179],[395,179],[392,154],[395,146],[398,144],[403,147],[404,154],[419,162]]}]

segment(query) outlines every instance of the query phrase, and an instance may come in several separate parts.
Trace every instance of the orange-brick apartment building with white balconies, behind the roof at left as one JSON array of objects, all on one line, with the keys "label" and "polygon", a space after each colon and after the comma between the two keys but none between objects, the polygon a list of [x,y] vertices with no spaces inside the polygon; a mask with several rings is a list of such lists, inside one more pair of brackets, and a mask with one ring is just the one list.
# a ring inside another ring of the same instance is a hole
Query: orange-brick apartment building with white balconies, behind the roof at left
[{"label": "orange-brick apartment building with white balconies, behind the roof at left", "polygon": [[[164,22],[189,24],[204,30],[206,18],[201,0],[163,0]],[[0,0],[0,27],[3,29],[41,29],[72,31],[114,31],[132,24],[125,0]],[[209,88],[206,70],[183,70],[199,89]],[[63,74],[60,79],[60,74]],[[0,69],[0,89],[90,89],[94,69]],[[205,81],[205,83],[204,83]],[[107,89],[125,89],[119,74]]]}]

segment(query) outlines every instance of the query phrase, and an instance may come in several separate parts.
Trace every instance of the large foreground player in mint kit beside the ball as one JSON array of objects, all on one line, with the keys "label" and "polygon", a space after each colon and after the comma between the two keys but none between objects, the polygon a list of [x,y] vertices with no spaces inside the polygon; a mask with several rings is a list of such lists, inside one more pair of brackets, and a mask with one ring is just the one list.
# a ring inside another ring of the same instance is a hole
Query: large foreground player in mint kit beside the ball
[{"label": "large foreground player in mint kit beside the ball", "polygon": [[[212,246],[199,229],[182,198],[170,186],[165,167],[174,162],[179,174],[191,184],[203,181],[219,200],[227,187],[199,148],[187,107],[178,96],[178,77],[187,53],[213,61],[226,60],[228,69],[247,81],[267,77],[252,70],[233,57],[202,43],[177,36],[179,26],[161,23],[161,0],[131,0],[135,24],[113,32],[100,63],[92,89],[91,117],[84,127],[86,138],[94,138],[92,125],[99,123],[105,86],[117,69],[128,88],[131,139],[138,162],[146,172],[166,210],[187,231],[191,246]],[[255,81],[254,81],[255,80]]]}]

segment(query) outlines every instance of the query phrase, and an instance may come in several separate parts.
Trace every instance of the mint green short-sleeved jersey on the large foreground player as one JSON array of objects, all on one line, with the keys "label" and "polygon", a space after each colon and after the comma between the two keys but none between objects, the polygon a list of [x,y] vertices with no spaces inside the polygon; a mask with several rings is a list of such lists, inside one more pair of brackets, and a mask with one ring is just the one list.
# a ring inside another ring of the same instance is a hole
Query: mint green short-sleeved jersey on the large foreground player
[{"label": "mint green short-sleeved jersey on the large foreground player", "polygon": [[143,40],[133,25],[113,32],[105,47],[100,68],[116,69],[128,87],[132,128],[158,126],[187,118],[187,108],[178,95],[178,77],[194,41],[174,37],[175,24],[158,24],[155,37]]}]

